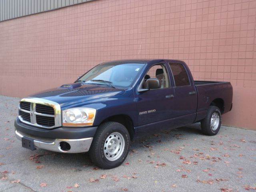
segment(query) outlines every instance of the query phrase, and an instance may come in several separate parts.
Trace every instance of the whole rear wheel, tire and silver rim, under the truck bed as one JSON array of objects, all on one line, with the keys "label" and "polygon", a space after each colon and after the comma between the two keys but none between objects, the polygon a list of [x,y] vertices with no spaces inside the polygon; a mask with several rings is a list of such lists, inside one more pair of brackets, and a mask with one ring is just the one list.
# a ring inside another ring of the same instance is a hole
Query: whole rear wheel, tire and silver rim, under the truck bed
[{"label": "whole rear wheel, tire and silver rim, under the truck bed", "polygon": [[201,122],[201,130],[206,135],[216,135],[220,130],[221,112],[216,106],[210,106],[206,118]]}]

